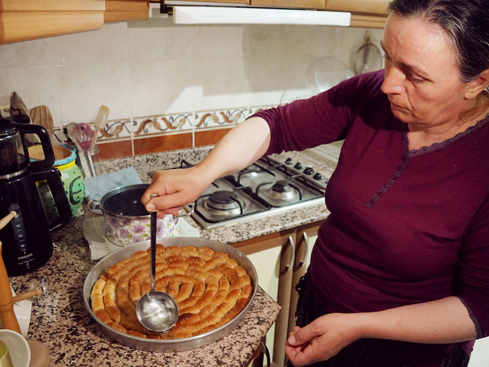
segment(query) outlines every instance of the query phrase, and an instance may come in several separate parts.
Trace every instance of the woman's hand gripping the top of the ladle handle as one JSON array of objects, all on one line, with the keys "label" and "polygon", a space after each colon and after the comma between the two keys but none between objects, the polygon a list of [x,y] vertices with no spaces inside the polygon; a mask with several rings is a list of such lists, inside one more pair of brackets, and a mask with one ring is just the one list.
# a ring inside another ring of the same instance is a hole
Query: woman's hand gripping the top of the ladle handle
[{"label": "woman's hand gripping the top of the ladle handle", "polygon": [[[198,166],[156,171],[153,181],[141,197],[149,212],[178,214],[178,207],[194,202],[213,180],[206,180]],[[151,194],[158,194],[151,197]]]}]

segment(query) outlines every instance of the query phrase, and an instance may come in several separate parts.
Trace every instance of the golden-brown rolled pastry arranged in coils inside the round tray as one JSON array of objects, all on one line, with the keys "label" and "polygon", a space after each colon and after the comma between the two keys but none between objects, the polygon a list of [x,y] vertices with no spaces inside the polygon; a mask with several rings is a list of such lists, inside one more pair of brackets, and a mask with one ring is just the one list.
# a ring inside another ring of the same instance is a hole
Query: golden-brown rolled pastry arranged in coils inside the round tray
[{"label": "golden-brown rolled pastry arranged in coils inside the round tray", "polygon": [[182,339],[231,321],[253,292],[246,270],[228,254],[202,246],[156,245],[155,289],[177,302],[177,324],[157,333],[143,327],[135,305],[151,290],[150,249],[110,266],[92,287],[91,309],[112,328],[141,338]]}]

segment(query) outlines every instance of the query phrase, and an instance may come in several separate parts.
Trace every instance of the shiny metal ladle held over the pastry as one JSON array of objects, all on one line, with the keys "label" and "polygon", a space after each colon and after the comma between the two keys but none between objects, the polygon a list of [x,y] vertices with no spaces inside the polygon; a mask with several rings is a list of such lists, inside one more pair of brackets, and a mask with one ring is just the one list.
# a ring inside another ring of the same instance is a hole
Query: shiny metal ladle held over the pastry
[{"label": "shiny metal ladle held over the pastry", "polygon": [[[152,194],[151,196],[157,196]],[[142,326],[156,332],[171,329],[177,323],[178,306],[172,296],[155,290],[156,273],[156,212],[151,213],[151,291],[136,304],[136,317]]]}]

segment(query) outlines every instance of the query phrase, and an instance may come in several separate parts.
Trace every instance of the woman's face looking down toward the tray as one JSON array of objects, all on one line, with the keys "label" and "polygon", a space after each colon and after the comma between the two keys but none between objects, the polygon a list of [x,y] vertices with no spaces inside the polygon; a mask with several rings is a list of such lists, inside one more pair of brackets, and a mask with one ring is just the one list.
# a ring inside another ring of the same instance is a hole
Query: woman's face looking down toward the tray
[{"label": "woman's face looking down toward the tray", "polygon": [[467,83],[460,81],[448,36],[420,19],[391,15],[382,40],[384,92],[399,120],[420,127],[459,122],[467,109]]}]

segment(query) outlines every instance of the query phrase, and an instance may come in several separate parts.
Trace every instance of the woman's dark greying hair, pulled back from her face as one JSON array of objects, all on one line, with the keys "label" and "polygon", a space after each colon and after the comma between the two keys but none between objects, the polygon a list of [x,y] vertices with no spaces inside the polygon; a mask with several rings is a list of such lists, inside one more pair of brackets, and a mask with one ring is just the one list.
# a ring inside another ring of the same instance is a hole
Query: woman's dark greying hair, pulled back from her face
[{"label": "woman's dark greying hair, pulled back from her face", "polygon": [[392,0],[389,10],[441,27],[456,53],[462,82],[489,69],[489,0]]}]

